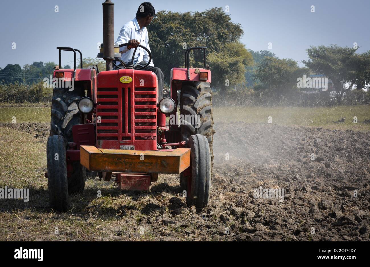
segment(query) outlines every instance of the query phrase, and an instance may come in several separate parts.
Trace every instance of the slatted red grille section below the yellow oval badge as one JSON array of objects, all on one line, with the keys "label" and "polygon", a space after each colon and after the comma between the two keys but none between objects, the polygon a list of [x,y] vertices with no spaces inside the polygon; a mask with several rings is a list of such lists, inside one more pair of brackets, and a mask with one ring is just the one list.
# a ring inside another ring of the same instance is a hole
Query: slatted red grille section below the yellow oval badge
[{"label": "slatted red grille section below the yellow oval badge", "polygon": [[131,145],[157,139],[156,88],[98,88],[97,140]]}]

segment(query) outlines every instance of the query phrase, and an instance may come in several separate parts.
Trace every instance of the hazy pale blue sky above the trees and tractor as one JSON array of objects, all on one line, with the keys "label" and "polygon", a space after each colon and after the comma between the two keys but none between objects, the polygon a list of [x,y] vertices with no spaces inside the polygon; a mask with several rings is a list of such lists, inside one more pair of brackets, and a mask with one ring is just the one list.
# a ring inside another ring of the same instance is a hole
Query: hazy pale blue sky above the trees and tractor
[{"label": "hazy pale blue sky above the trees and tractor", "polygon": [[[135,17],[142,1],[112,0],[115,3],[114,33]],[[57,46],[80,49],[84,57],[96,57],[102,42],[104,0],[11,0],[1,1],[0,67],[58,61]],[[156,11],[203,11],[229,6],[232,21],[241,24],[241,39],[247,48],[268,50],[280,58],[300,62],[310,45],[360,46],[370,50],[369,0],[152,0]],[[54,12],[58,5],[59,12]],[[314,6],[315,12],[311,12]],[[16,49],[12,49],[16,43]],[[149,40],[150,43],[150,40]],[[62,55],[62,65],[73,56]],[[300,63],[302,65],[302,63]]]}]

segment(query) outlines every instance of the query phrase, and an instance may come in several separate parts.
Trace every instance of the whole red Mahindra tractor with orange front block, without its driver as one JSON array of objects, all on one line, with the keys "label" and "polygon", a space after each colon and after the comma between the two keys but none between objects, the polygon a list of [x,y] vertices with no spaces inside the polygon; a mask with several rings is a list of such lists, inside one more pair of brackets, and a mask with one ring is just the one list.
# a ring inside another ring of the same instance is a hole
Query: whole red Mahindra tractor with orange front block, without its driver
[{"label": "whole red Mahindra tractor with orange front block, without its driver", "polygon": [[[170,97],[160,98],[154,72],[135,66],[134,57],[123,67],[115,64],[121,55],[112,32],[113,3],[107,0],[103,3],[104,46],[98,54],[107,61],[107,71],[84,69],[79,50],[57,47],[59,66],[61,51],[73,51],[74,68],[54,71],[55,78],[71,80],[73,87],[53,91],[46,174],[50,206],[68,210],[69,195],[83,192],[91,172],[97,172],[100,180],[113,178],[121,190],[148,192],[159,173],[179,173],[186,203],[207,206],[214,131],[206,47],[185,51],[185,67],[171,70]],[[203,68],[190,68],[191,50],[203,50]],[[152,55],[147,52],[150,62]]]}]

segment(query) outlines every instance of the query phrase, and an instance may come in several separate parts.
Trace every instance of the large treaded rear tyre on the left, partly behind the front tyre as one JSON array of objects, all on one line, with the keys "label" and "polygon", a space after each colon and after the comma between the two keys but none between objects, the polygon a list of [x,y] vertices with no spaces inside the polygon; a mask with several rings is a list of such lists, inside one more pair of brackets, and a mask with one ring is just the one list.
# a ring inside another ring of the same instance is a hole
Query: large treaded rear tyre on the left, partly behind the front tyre
[{"label": "large treaded rear tyre on the left, partly behind the front tyre", "polygon": [[[66,142],[73,142],[72,126],[82,124],[82,116],[77,102],[85,96],[83,88],[74,86],[68,88],[54,88],[51,103],[50,136],[64,136]],[[79,162],[73,163],[73,172],[68,178],[69,194],[83,193],[86,180],[86,168]]]}]

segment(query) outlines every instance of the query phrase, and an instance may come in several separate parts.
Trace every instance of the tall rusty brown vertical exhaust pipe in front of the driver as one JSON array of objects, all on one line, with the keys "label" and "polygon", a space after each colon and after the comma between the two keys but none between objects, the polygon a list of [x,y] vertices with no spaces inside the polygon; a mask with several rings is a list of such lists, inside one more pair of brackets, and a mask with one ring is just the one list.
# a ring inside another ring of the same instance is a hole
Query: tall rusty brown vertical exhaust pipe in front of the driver
[{"label": "tall rusty brown vertical exhaust pipe in front of the driver", "polygon": [[106,0],[103,5],[103,58],[107,62],[107,71],[112,70],[114,60],[114,3]]}]

